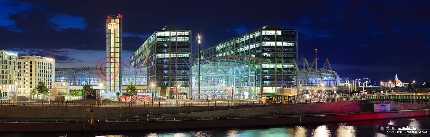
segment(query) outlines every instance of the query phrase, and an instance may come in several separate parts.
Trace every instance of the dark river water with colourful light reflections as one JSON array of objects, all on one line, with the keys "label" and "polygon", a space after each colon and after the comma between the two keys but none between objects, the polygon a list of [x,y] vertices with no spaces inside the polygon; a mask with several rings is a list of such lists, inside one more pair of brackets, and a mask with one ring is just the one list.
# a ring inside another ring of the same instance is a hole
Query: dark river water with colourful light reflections
[{"label": "dark river water with colourful light reflections", "polygon": [[[208,122],[210,124],[210,122]],[[180,125],[178,125],[180,126]],[[420,133],[402,134],[409,126]],[[1,137],[430,137],[428,116],[257,127],[202,128],[157,131],[0,133]],[[393,134],[394,132],[397,132]],[[390,132],[390,133],[389,133]]]}]

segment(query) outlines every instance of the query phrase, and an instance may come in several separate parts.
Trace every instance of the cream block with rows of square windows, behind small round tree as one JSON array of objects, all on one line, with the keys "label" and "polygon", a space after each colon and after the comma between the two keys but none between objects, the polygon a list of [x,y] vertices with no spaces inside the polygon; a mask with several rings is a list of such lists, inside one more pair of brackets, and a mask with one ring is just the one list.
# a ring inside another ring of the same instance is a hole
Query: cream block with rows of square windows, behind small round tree
[{"label": "cream block with rows of square windows, behind small round tree", "polygon": [[47,88],[52,88],[55,77],[55,59],[40,56],[18,57],[18,95],[33,98],[30,90],[39,81],[45,82]]}]

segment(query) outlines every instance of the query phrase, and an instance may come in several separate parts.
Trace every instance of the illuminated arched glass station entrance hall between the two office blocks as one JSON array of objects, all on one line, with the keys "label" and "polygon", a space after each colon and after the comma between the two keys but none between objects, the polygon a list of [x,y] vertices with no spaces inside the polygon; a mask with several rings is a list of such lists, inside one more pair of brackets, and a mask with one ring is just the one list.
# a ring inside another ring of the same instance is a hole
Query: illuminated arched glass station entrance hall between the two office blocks
[{"label": "illuminated arched glass station entrance hall between the two office blocks", "polygon": [[[221,56],[201,60],[201,99],[257,99],[261,94],[261,64],[266,59],[250,56]],[[192,98],[199,98],[198,62],[192,66]]]}]

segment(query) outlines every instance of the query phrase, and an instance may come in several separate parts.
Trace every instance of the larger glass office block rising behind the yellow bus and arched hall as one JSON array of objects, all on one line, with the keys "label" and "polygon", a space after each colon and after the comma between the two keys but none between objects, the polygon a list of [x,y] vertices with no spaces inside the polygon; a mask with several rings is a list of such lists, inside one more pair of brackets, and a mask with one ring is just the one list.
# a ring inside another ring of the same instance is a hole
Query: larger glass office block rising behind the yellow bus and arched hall
[{"label": "larger glass office block rising behind the yellow bus and arched hall", "polygon": [[[295,72],[297,43],[297,30],[280,29],[280,25],[267,25],[204,49],[200,58],[206,60],[213,57],[239,55],[268,60],[267,64],[255,66],[261,67],[258,69],[261,71],[246,73],[231,79],[231,82],[227,80],[227,83],[236,83],[233,88],[237,95],[275,93],[277,88],[297,88]],[[193,63],[197,62],[197,59],[198,54],[194,54]],[[193,70],[194,67],[197,66],[193,66]],[[197,71],[193,71],[193,75],[197,75]],[[226,85],[225,88],[230,86],[230,84]],[[198,91],[193,87],[193,95],[196,94]],[[204,95],[204,93],[201,94]]]}]

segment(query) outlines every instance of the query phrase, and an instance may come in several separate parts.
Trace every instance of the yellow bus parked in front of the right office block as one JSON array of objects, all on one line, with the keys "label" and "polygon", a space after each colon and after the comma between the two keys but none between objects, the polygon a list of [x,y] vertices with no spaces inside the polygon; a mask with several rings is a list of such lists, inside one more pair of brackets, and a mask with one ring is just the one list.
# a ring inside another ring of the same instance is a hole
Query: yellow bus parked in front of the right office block
[{"label": "yellow bus parked in front of the right office block", "polygon": [[297,99],[297,95],[294,95],[294,94],[262,95],[261,101],[264,103],[270,103],[270,104],[294,103],[296,99]]}]

